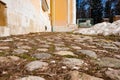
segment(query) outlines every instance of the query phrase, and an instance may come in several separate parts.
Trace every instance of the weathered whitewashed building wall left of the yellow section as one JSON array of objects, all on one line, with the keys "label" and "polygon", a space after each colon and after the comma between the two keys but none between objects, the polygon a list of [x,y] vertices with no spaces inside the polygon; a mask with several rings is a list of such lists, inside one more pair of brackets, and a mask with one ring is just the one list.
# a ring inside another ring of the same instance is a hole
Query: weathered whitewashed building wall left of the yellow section
[{"label": "weathered whitewashed building wall left of the yellow section", "polygon": [[[6,3],[7,25],[0,26],[0,36],[51,31],[50,11],[44,12],[42,0],[1,0]],[[50,4],[50,3],[48,3]],[[50,5],[48,5],[50,7]]]}]

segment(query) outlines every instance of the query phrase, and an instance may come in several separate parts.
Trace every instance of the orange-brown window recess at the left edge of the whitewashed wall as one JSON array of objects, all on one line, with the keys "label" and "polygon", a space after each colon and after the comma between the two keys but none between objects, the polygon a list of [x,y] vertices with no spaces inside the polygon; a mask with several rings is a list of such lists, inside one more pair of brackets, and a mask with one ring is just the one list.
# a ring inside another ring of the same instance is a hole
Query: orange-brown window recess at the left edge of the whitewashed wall
[{"label": "orange-brown window recess at the left edge of the whitewashed wall", "polygon": [[0,26],[6,26],[6,4],[0,1]]}]

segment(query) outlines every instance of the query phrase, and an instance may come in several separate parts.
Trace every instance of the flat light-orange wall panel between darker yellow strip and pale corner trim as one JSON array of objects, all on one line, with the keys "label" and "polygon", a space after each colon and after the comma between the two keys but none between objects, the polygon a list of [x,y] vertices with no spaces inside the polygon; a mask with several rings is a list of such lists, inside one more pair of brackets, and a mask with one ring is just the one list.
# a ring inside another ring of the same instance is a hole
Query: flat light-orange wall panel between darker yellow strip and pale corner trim
[{"label": "flat light-orange wall panel between darker yellow strip and pale corner trim", "polygon": [[68,0],[55,0],[55,25],[63,26],[68,19]]}]

